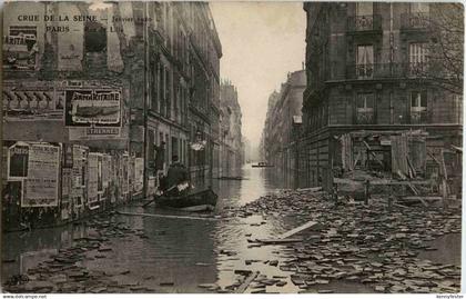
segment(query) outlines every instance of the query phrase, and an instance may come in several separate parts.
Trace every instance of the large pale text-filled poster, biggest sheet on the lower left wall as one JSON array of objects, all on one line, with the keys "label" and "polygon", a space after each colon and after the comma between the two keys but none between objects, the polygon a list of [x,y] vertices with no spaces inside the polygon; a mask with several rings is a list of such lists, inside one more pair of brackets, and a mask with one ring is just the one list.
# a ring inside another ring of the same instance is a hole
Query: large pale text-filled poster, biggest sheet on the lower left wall
[{"label": "large pale text-filled poster, biggest sheet on the lower left wall", "polygon": [[22,207],[57,207],[60,173],[60,148],[30,144],[28,178],[24,180]]}]

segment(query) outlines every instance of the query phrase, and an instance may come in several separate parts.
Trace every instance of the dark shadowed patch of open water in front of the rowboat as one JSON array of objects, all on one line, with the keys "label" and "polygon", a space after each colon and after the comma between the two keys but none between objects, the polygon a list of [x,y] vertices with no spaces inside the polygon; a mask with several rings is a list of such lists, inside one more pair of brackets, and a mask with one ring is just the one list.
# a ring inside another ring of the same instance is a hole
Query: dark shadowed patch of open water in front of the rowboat
[{"label": "dark shadowed patch of open water in front of the rowboat", "polygon": [[[126,210],[142,212],[141,208]],[[216,280],[216,256],[211,238],[214,228],[199,220],[120,216],[131,228],[140,228],[149,238],[113,240],[105,259],[85,263],[90,269],[116,276],[121,283],[140,282],[160,292],[200,292],[199,283]],[[109,259],[112,263],[109,263]]]}]

